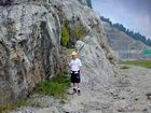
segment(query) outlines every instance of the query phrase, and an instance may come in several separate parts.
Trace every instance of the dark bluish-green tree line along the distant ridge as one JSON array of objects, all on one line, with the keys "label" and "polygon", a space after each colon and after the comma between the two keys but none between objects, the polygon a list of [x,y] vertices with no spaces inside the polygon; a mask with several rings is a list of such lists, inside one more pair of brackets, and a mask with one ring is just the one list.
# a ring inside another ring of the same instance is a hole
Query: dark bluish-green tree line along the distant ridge
[{"label": "dark bluish-green tree line along the distant ridge", "polygon": [[134,32],[133,30],[126,29],[122,24],[112,24],[112,22],[109,18],[105,18],[104,16],[100,16],[100,19],[102,22],[107,22],[111,27],[116,28],[120,31],[125,32],[127,36],[132,37],[134,40],[141,41],[146,45],[151,46],[151,39],[147,39],[145,36],[140,34],[139,32]]}]

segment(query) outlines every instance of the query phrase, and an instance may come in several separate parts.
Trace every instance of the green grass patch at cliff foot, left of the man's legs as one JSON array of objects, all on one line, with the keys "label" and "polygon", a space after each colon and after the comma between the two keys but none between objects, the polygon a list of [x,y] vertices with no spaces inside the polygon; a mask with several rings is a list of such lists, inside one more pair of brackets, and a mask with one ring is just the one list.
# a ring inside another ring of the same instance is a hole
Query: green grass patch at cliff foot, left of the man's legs
[{"label": "green grass patch at cliff foot, left of the man's legs", "polygon": [[63,71],[51,80],[39,83],[36,93],[54,96],[57,99],[67,99],[66,90],[70,87],[70,79],[67,74],[68,71]]}]

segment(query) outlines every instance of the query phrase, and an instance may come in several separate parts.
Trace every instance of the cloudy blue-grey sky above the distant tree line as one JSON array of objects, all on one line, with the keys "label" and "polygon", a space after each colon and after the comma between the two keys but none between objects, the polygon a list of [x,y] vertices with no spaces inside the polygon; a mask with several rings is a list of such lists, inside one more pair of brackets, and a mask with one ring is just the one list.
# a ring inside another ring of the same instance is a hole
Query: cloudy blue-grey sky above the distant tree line
[{"label": "cloudy blue-grey sky above the distant tree line", "polygon": [[151,39],[151,0],[92,0],[100,16]]}]

